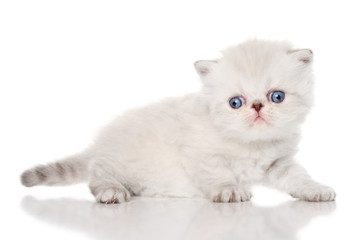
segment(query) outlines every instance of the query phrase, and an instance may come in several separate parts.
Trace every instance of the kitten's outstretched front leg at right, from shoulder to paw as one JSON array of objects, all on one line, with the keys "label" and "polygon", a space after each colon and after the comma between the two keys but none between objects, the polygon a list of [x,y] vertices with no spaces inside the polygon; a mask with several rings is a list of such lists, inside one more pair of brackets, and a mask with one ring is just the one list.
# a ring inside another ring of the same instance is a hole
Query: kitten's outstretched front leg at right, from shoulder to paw
[{"label": "kitten's outstretched front leg at right, from shoulder to paw", "polygon": [[306,170],[292,160],[277,160],[267,170],[265,184],[305,201],[333,201],[335,191],[314,181]]}]

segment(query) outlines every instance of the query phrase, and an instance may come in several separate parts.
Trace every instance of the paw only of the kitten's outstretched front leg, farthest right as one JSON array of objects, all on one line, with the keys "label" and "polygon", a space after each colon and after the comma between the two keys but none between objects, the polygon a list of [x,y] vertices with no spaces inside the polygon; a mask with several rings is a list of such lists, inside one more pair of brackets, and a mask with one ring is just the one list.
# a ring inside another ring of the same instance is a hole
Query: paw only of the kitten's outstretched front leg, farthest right
[{"label": "paw only of the kitten's outstretched front leg, farthest right", "polygon": [[334,189],[324,185],[306,187],[290,195],[309,202],[334,201],[336,197]]}]

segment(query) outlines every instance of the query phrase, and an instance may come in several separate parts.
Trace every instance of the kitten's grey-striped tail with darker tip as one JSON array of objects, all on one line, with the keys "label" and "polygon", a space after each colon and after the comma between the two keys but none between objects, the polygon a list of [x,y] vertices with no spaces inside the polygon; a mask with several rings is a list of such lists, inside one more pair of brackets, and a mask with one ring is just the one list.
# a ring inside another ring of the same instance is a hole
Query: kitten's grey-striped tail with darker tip
[{"label": "kitten's grey-striped tail with darker tip", "polygon": [[88,179],[89,157],[75,154],[46,165],[38,165],[21,174],[21,183],[26,187],[37,185],[68,185]]}]

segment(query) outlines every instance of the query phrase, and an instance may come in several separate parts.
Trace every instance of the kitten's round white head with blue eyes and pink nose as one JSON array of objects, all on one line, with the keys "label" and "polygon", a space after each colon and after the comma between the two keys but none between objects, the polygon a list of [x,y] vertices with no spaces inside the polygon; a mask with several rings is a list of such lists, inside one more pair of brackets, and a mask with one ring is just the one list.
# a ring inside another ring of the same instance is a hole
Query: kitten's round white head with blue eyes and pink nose
[{"label": "kitten's round white head with blue eyes and pink nose", "polygon": [[312,105],[312,51],[251,40],[197,61],[214,124],[244,141],[290,136]]}]

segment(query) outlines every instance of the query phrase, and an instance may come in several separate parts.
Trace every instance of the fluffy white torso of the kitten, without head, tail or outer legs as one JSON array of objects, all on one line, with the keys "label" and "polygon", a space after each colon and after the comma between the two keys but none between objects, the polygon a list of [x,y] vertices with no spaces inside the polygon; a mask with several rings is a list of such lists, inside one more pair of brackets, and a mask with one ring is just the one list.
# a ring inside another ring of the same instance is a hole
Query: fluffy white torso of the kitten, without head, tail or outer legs
[{"label": "fluffy white torso of the kitten, without head, tail or outer legs", "polygon": [[[101,150],[92,155],[105,152],[99,165],[121,169],[123,184],[136,195],[194,197],[205,196],[196,185],[209,193],[218,181],[258,183],[274,159],[294,153],[288,144],[295,139],[244,143],[223,136],[203,101],[193,94],[128,112],[101,134],[93,148]],[[202,177],[205,185],[194,181]]]}]

